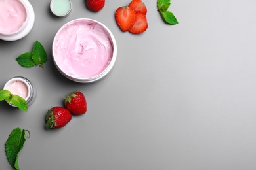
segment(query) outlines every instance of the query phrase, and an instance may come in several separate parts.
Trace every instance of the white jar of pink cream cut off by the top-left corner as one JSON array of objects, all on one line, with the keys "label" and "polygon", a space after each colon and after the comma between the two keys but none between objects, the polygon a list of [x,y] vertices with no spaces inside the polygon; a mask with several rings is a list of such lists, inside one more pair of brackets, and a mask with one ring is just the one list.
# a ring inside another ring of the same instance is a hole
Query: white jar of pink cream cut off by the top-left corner
[{"label": "white jar of pink cream cut off by the top-left corner", "polygon": [[22,39],[33,27],[35,13],[28,0],[0,0],[0,39]]}]

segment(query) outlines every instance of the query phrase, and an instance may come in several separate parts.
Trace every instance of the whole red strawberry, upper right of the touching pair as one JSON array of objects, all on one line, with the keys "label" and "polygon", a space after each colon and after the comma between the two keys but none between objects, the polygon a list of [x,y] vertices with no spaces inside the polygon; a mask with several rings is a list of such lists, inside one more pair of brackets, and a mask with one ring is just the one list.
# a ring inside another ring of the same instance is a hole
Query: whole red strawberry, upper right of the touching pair
[{"label": "whole red strawberry, upper right of the touching pair", "polygon": [[85,95],[79,90],[70,93],[64,100],[66,109],[70,110],[72,114],[80,115],[85,114],[87,111],[87,103]]}]

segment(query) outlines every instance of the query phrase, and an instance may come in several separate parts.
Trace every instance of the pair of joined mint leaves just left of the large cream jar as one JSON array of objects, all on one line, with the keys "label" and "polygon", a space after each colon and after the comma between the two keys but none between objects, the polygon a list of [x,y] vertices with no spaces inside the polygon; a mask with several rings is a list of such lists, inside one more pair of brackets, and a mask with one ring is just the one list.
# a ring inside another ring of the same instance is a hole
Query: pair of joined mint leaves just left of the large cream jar
[{"label": "pair of joined mint leaves just left of the large cream jar", "polygon": [[43,64],[47,61],[47,53],[42,44],[39,41],[35,41],[32,52],[21,54],[16,58],[16,61],[23,67],[39,65],[39,67],[43,68]]}]

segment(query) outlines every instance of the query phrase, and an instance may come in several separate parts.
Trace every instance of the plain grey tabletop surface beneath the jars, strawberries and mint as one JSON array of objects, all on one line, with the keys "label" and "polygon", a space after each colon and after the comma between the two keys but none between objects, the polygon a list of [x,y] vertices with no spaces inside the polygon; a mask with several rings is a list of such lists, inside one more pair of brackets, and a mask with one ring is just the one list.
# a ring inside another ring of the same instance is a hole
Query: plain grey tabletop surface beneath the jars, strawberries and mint
[{"label": "plain grey tabletop surface beneath the jars, strawberries and mint", "polygon": [[[30,3],[35,24],[23,39],[0,41],[0,86],[25,76],[38,90],[28,112],[0,103],[0,169],[12,169],[5,141],[12,129],[30,130],[20,169],[256,169],[256,1],[172,1],[179,24],[164,24],[154,0],[148,30],[123,33],[114,12],[129,1],[106,1],[90,12],[73,0],[66,18],[50,1]],[[54,35],[70,20],[91,18],[117,41],[108,76],[79,84],[62,76],[51,56]],[[38,40],[49,61],[24,68],[15,59]],[[63,97],[81,90],[88,103],[63,129],[46,131],[44,116]]]}]

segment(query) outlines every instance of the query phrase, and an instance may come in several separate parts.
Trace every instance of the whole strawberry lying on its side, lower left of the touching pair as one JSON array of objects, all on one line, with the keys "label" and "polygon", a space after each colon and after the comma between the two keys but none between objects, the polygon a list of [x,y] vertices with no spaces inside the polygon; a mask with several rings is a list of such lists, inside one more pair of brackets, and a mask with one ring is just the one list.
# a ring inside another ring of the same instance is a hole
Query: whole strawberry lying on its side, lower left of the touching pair
[{"label": "whole strawberry lying on its side, lower left of the touching pair", "polygon": [[70,111],[64,107],[52,107],[45,115],[46,129],[61,128],[68,124],[72,118]]}]

